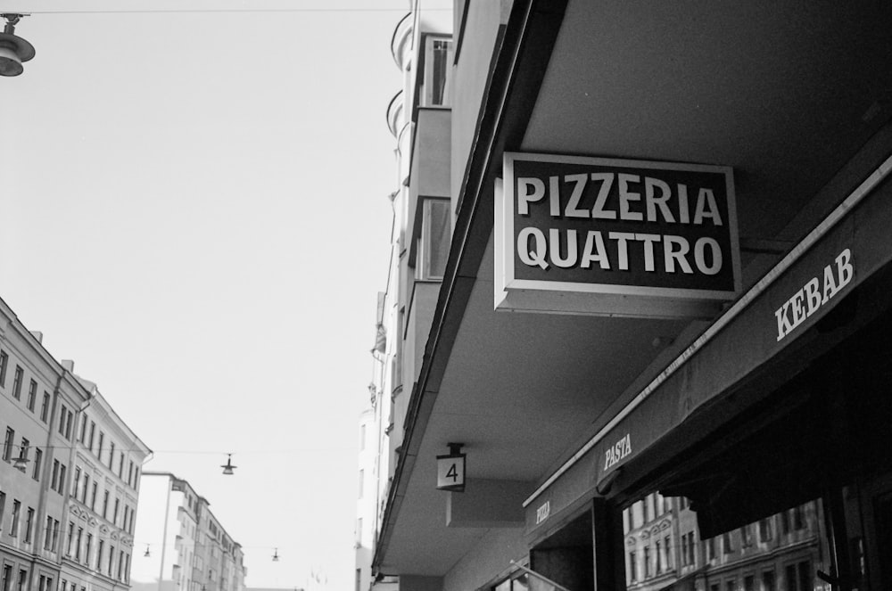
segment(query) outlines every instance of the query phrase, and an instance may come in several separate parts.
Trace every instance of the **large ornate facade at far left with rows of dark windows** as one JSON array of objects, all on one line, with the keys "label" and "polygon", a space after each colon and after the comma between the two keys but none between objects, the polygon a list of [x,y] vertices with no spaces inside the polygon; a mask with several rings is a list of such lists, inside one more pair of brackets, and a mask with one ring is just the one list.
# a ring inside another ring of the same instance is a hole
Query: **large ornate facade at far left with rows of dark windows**
[{"label": "large ornate facade at far left with rows of dark windows", "polygon": [[[150,450],[41,341],[0,300],[0,588],[128,589],[139,469]],[[95,432],[107,433],[106,447]],[[102,493],[117,502],[113,515],[100,510]]]}]

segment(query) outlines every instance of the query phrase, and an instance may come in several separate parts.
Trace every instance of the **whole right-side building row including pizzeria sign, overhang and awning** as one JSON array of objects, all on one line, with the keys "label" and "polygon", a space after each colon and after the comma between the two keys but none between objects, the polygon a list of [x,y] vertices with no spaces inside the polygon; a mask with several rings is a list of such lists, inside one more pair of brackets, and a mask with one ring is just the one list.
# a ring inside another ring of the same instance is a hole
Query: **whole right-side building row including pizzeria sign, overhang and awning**
[{"label": "whole right-side building row including pizzeria sign, overhang and awning", "polygon": [[357,586],[892,586],[892,8],[433,15]]}]

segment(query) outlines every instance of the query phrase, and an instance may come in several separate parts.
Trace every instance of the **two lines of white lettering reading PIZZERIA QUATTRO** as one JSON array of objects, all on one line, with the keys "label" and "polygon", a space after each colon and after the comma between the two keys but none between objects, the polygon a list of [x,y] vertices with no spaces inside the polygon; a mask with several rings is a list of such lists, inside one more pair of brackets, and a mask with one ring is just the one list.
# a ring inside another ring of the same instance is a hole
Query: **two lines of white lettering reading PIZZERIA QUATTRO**
[{"label": "two lines of white lettering reading PIZZERIA QUATTRO", "polygon": [[[542,214],[552,227],[532,222]],[[516,234],[528,267],[717,275],[728,259],[715,237],[726,234],[715,232],[726,220],[710,186],[622,172],[518,176],[516,215],[531,218]],[[623,222],[641,231],[616,226]]]}]

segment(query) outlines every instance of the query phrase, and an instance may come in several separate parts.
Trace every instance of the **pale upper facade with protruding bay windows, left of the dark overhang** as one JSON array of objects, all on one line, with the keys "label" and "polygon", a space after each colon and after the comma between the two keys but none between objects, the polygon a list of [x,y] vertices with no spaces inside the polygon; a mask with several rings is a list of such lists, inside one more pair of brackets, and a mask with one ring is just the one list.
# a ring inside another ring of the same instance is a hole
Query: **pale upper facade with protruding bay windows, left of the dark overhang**
[{"label": "pale upper facade with protruding bay windows, left of the dark overhang", "polygon": [[387,107],[395,149],[388,283],[377,296],[369,406],[359,418],[355,587],[395,589],[373,572],[389,483],[401,452],[409,397],[434,317],[449,251],[451,15],[414,10],[391,39],[403,86]]}]

